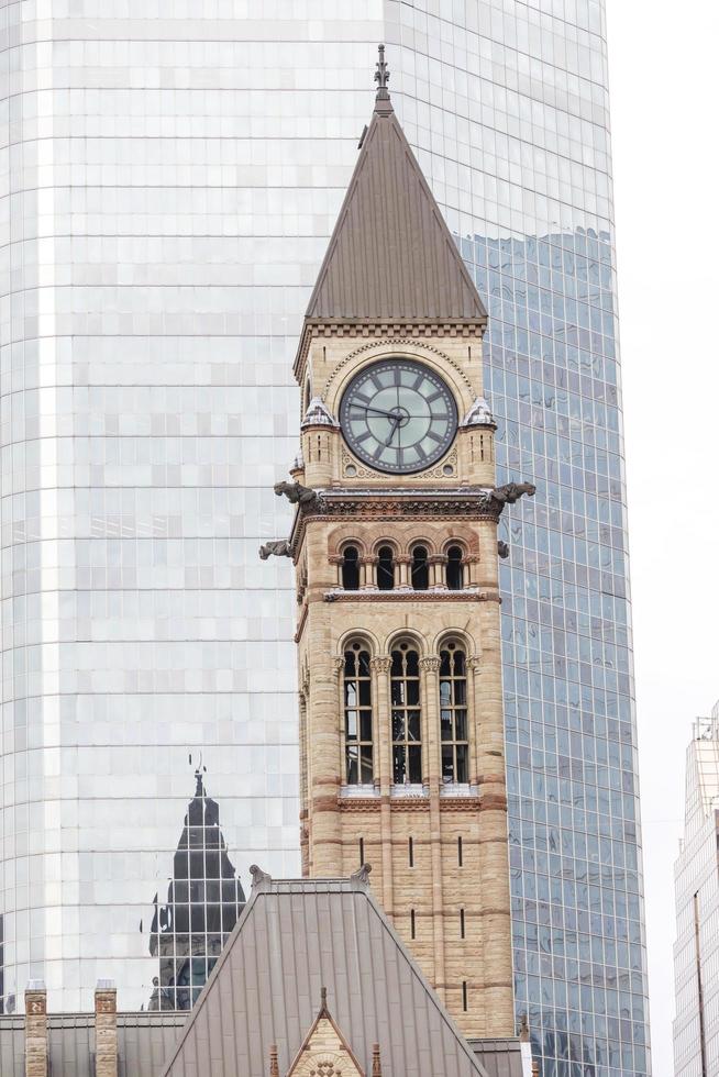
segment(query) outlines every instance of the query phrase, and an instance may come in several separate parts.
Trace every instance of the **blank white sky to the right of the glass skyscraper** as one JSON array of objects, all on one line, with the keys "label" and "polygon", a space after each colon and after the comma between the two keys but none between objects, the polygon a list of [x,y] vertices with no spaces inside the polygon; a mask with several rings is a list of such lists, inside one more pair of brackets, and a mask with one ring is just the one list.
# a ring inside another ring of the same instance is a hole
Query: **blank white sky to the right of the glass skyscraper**
[{"label": "blank white sky to the right of the glass skyscraper", "polygon": [[654,1077],[684,756],[719,698],[719,4],[607,0]]}]

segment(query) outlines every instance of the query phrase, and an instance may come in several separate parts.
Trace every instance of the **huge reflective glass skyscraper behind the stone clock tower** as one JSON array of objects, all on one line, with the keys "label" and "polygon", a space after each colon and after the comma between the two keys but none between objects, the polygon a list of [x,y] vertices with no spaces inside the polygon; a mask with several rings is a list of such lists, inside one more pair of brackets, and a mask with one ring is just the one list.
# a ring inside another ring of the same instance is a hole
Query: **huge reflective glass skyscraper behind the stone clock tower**
[{"label": "huge reflective glass skyscraper behind the stone clock tower", "polygon": [[645,1074],[602,0],[0,5],[3,1006],[154,1004],[200,753],[239,887],[298,870],[257,546],[378,41],[489,309],[500,481],[538,486],[504,535],[518,1012],[544,1074]]}]

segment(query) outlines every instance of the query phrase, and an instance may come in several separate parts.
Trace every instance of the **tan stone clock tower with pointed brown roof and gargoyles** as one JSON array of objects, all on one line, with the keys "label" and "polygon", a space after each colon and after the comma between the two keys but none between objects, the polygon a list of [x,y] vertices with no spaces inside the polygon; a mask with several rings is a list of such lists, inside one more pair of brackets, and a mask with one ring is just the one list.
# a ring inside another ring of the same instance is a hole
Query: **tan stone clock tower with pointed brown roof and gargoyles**
[{"label": "tan stone clock tower with pointed brown roof and gargoyles", "polygon": [[[303,873],[367,871],[468,1036],[515,1033],[487,314],[394,113],[374,114],[295,374]],[[364,867],[363,867],[364,866]],[[377,946],[383,941],[377,940]],[[388,1000],[389,1003],[389,1000]]]}]

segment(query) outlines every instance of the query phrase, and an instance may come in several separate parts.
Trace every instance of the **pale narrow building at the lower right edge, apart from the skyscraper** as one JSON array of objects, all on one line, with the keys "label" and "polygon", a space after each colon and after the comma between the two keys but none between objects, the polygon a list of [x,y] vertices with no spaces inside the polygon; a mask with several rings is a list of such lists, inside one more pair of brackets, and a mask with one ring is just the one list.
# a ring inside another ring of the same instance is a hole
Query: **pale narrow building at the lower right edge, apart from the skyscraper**
[{"label": "pale narrow building at the lower right edge, apart from the skyscraper", "polygon": [[674,1073],[719,1069],[719,703],[686,754],[684,837],[674,867]]}]

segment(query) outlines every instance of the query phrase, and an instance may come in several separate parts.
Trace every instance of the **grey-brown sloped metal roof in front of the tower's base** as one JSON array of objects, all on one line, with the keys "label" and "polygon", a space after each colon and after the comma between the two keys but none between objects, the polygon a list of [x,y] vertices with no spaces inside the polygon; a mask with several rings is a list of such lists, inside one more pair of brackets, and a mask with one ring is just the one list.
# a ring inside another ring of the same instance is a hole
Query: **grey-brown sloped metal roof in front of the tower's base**
[{"label": "grey-brown sloped metal roof in front of the tower's base", "polygon": [[383,1077],[487,1077],[365,885],[353,879],[255,887],[163,1077],[286,1073],[317,1017],[321,988],[360,1064]]}]

